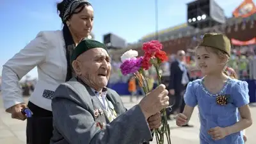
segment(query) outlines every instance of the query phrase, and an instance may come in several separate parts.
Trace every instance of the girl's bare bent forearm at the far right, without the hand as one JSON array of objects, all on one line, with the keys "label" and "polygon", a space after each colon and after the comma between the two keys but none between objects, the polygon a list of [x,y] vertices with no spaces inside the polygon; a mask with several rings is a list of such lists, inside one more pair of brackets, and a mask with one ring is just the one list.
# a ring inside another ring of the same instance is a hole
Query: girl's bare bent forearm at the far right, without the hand
[{"label": "girl's bare bent forearm at the far right, without the hand", "polygon": [[238,108],[238,110],[239,110],[241,119],[236,124],[226,127],[228,135],[237,133],[239,131],[243,131],[247,127],[252,126],[252,117],[251,117],[249,105],[246,104],[244,106],[241,106],[240,108]]}]

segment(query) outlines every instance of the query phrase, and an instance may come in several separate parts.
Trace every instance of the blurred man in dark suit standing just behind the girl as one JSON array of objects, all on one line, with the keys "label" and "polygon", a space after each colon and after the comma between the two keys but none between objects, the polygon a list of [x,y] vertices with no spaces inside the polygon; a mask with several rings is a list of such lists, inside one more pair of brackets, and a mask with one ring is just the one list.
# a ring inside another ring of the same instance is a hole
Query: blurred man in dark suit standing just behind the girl
[{"label": "blurred man in dark suit standing just behind the girl", "polygon": [[[179,112],[183,112],[184,110],[184,90],[186,89],[190,78],[189,72],[184,63],[186,58],[186,53],[184,50],[179,50],[177,52],[176,60],[172,62],[170,71],[170,84],[169,84],[169,92],[172,96],[174,96],[175,103],[172,107],[172,112],[179,110]],[[168,112],[168,111],[167,111]],[[178,112],[178,113],[179,113]],[[170,111],[168,112],[170,115]],[[189,124],[184,125],[183,127],[192,127]]]}]

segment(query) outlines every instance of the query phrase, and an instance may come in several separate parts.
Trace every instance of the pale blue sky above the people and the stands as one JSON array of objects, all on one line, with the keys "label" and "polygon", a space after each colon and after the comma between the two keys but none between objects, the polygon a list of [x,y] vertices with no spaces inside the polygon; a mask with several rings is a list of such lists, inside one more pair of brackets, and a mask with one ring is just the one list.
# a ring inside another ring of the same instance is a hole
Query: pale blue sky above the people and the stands
[{"label": "pale blue sky above the people and the stands", "polygon": [[[186,22],[186,4],[193,0],[158,0],[158,29]],[[215,0],[227,17],[243,0]],[[56,3],[60,0],[0,1],[0,76],[3,64],[33,40],[40,31],[62,28]],[[253,0],[256,3],[256,0]],[[134,43],[156,31],[155,0],[90,0],[94,9],[93,34],[102,41],[108,32]],[[37,77],[36,68],[28,73]]]}]

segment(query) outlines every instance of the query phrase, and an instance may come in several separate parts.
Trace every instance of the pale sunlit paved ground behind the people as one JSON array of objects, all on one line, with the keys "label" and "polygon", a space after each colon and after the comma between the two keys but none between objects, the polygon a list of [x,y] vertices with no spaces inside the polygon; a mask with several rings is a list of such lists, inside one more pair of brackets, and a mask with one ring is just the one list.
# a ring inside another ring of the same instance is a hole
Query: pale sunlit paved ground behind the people
[{"label": "pale sunlit paved ground behind the people", "polygon": [[[122,96],[125,107],[131,108],[136,104],[129,102],[129,97]],[[134,99],[135,100],[135,99]],[[25,101],[28,101],[28,98],[25,98]],[[246,129],[246,136],[248,137],[247,144],[256,143],[256,107],[251,108],[252,117],[254,124],[253,126]],[[198,121],[198,110],[195,108],[195,112],[191,117],[190,124],[193,124],[194,127],[177,127],[175,120],[170,120],[169,124],[171,127],[171,139],[172,143],[182,143],[182,144],[198,144],[198,129],[200,127]],[[26,143],[26,121],[11,119],[11,115],[4,112],[3,101],[0,95],[0,143],[2,144],[25,144]],[[253,133],[254,132],[254,133]],[[253,137],[254,136],[254,137]],[[156,144],[156,140],[151,142]]]}]

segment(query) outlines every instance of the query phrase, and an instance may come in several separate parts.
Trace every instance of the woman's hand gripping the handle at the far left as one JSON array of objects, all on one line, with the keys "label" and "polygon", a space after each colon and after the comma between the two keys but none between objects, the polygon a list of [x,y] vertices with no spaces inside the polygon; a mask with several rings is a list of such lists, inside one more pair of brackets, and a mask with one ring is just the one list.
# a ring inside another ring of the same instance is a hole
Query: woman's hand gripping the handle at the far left
[{"label": "woman's hand gripping the handle at the far left", "polygon": [[23,115],[21,113],[22,108],[28,108],[27,104],[25,103],[16,104],[8,108],[6,112],[12,113],[12,119],[26,120],[26,115]]}]

